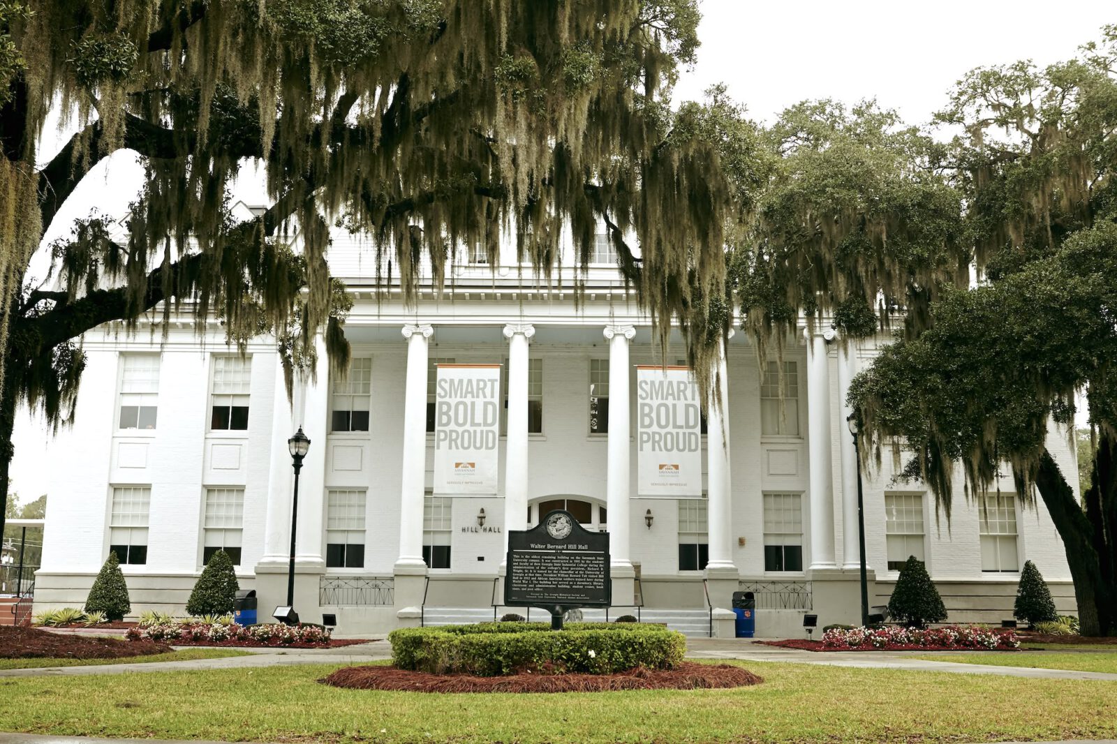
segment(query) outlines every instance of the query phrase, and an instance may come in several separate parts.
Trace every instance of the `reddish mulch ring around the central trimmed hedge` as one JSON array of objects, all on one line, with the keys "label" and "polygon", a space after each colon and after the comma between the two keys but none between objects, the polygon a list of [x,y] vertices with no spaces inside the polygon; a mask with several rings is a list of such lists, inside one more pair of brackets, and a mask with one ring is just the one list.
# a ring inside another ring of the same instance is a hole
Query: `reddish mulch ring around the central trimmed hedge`
[{"label": "reddish mulch ring around the central trimmed hedge", "polygon": [[622,689],[718,689],[764,681],[741,667],[684,661],[675,669],[636,668],[613,675],[432,675],[395,667],[345,667],[318,681],[351,689],[411,693],[599,693]]}]

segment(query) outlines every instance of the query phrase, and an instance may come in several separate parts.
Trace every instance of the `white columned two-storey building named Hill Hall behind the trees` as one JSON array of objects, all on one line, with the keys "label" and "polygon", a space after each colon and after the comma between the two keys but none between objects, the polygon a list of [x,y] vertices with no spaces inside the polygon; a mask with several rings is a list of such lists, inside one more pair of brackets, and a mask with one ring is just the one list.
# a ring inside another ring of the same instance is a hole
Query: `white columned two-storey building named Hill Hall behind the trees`
[{"label": "white columned two-storey building named Hill Hall behind the trees", "polygon": [[[338,242],[331,265],[355,302],[345,326],[353,368],[335,383],[323,361],[317,382],[296,388],[294,407],[268,338],[241,359],[216,321],[199,334],[184,317],[162,344],[161,331],[146,325],[134,335],[115,325],[86,334],[76,425],[52,445],[36,609],[80,605],[115,550],[133,613],[181,614],[204,561],[223,547],[267,619],[286,597],[287,438],[302,425],[312,439],[298,500],[295,607],[304,621],[333,613],[340,632],[360,635],[523,613],[493,607],[502,601],[505,534],[564,506],[588,528],[610,532],[610,617],[642,604],[646,620],[732,633],[724,608],[733,591],[752,590],[762,636],[798,635],[808,611],[820,627],[856,622],[857,471],[842,401],[873,346],[846,351],[802,334],[785,356],[781,414],[776,363],[762,374],[748,340],[734,335],[727,446],[716,410],[703,437],[707,497],[642,498],[632,370],[662,360],[600,242],[580,307],[569,269],[566,288],[546,292],[515,267],[483,265],[457,268],[441,298],[428,283],[405,307],[398,287],[378,298],[370,251]],[[681,350],[676,340],[668,363]],[[496,497],[429,495],[427,403],[440,362],[503,365]],[[1052,432],[1049,447],[1077,483],[1067,438]],[[1025,560],[1043,572],[1060,611],[1075,609],[1063,546],[1042,504],[1024,509],[1005,481],[983,511],[960,484],[952,522],[939,522],[928,492],[890,483],[888,459],[865,480],[870,604],[887,603],[898,563],[916,555],[952,621],[1010,618]]]}]

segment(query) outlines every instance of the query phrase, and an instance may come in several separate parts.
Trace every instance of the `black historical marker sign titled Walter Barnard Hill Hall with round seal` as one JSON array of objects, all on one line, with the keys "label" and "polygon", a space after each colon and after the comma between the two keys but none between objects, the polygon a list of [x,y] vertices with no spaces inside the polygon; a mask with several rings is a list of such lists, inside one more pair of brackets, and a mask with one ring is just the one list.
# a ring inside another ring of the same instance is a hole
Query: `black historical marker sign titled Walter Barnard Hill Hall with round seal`
[{"label": "black historical marker sign titled Walter Barnard Hill Hall with round seal", "polygon": [[552,614],[609,607],[609,533],[590,532],[570,512],[555,509],[532,530],[508,532],[507,607],[538,607]]}]

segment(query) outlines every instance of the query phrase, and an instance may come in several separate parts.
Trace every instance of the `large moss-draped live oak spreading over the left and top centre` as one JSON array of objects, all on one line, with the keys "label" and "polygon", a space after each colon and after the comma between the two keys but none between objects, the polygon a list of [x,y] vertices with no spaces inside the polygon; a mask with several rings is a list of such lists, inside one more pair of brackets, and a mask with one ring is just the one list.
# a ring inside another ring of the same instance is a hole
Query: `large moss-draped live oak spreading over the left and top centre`
[{"label": "large moss-draped live oak spreading over the left and top centre", "polygon": [[[550,277],[569,230],[584,266],[603,222],[708,382],[733,193],[716,102],[669,105],[697,22],[695,0],[0,2],[0,500],[17,403],[67,420],[99,324],[216,314],[229,343],[273,334],[288,387],[317,334],[344,370],[332,223],[367,232],[379,286],[412,299],[423,261],[437,285],[464,251],[495,265],[505,231]],[[76,133],[40,163],[51,109]],[[146,175],[126,241],[90,213],[30,284],[46,230],[121,150]],[[246,163],[273,203],[236,223]]]}]

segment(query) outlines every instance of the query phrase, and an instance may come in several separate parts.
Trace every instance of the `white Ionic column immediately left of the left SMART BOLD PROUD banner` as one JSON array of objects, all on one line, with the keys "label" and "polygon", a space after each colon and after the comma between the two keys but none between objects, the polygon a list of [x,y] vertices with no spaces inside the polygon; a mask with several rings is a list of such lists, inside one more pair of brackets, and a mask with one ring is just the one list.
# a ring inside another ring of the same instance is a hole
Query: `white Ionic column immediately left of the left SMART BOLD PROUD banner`
[{"label": "white Ionic column immediately left of the left SMART BOLD PROUD banner", "polygon": [[[400,556],[395,561],[395,574],[426,575],[427,563],[422,560],[422,507],[427,471],[427,340],[435,330],[429,325],[404,325],[402,333],[408,340],[408,366],[403,393]],[[399,603],[397,599],[397,604]]]}]

